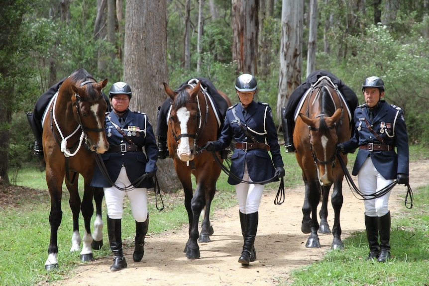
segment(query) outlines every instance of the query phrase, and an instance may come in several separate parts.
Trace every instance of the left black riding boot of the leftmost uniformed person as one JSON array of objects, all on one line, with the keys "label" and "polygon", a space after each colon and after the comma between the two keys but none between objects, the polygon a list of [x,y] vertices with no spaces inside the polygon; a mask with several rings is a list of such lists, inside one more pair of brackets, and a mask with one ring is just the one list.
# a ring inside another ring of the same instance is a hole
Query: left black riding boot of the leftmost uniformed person
[{"label": "left black riding boot of the leftmost uniformed person", "polygon": [[127,264],[122,251],[120,219],[111,219],[107,216],[107,234],[110,243],[110,249],[113,252],[113,264],[110,266],[110,270],[118,271],[122,268],[126,268]]}]

